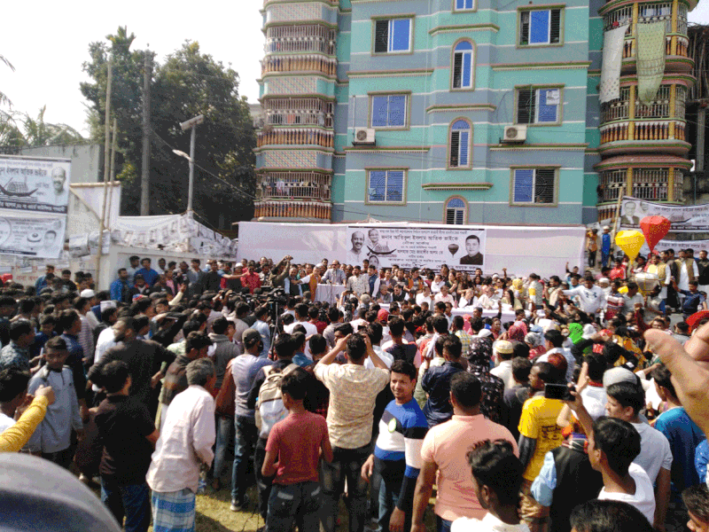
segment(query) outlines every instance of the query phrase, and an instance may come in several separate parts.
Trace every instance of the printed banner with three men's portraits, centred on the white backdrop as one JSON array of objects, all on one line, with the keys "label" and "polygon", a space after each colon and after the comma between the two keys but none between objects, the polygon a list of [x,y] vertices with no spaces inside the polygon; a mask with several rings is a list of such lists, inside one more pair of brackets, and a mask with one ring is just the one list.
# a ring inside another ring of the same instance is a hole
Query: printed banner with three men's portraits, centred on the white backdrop
[{"label": "printed banner with three men's portraits, centred on the white backdrop", "polygon": [[350,225],[347,227],[347,264],[367,259],[377,268],[440,268],[485,271],[486,230]]}]

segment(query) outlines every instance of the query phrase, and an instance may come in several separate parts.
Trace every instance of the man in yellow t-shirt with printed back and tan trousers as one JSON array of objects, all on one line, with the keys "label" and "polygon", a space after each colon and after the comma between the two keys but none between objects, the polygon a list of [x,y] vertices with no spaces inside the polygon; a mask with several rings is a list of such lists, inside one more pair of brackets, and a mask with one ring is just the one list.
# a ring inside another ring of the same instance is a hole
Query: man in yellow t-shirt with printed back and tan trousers
[{"label": "man in yellow t-shirt with printed back and tan trousers", "polygon": [[544,455],[556,449],[564,440],[561,428],[557,426],[557,417],[564,403],[544,397],[544,385],[563,382],[564,375],[551,364],[534,364],[529,372],[529,386],[533,395],[526,400],[519,418],[519,459],[525,467],[522,475],[521,514],[531,532],[547,529],[549,508],[537,503],[529,490],[544,464]]}]

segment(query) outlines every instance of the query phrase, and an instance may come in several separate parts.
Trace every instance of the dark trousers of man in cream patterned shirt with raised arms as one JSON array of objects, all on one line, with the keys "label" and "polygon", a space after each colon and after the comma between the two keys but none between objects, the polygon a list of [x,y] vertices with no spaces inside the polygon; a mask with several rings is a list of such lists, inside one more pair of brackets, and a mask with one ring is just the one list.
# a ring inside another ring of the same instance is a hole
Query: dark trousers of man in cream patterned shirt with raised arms
[{"label": "dark trousers of man in cream patterned shirt with raised arms", "polygon": [[347,502],[349,511],[349,532],[362,532],[367,519],[367,481],[362,480],[362,465],[367,461],[371,445],[358,449],[332,448],[332,463],[323,461],[321,480],[323,482],[322,520],[324,532],[334,532],[338,518],[339,496],[345,488],[347,478]]}]

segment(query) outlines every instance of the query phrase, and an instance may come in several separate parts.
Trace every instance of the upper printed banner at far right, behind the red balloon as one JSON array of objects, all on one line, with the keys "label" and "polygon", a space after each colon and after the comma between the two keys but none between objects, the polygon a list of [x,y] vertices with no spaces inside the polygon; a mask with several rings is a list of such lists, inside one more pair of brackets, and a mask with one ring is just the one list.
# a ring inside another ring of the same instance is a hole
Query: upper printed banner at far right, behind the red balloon
[{"label": "upper printed banner at far right, behind the red balloon", "polygon": [[628,196],[623,198],[620,209],[621,229],[640,227],[640,221],[645,216],[665,216],[672,223],[670,231],[674,232],[709,231],[709,204],[707,203],[675,206]]}]

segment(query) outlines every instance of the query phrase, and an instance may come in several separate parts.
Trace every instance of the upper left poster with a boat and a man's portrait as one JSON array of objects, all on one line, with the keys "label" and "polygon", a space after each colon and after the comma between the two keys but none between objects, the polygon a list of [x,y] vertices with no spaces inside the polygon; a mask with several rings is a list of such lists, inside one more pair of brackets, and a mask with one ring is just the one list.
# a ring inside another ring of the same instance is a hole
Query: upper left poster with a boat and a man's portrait
[{"label": "upper left poster with a boat and a man's portrait", "polygon": [[66,215],[71,161],[0,156],[0,208]]}]

